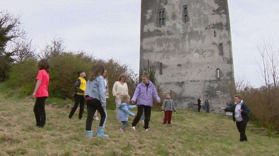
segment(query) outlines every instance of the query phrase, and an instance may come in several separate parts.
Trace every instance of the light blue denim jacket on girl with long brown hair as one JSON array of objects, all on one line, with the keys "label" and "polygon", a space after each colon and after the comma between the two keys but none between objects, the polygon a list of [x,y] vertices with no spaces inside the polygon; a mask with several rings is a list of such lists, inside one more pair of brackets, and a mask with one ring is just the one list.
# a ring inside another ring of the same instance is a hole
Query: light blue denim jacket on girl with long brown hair
[{"label": "light blue denim jacket on girl with long brown hair", "polygon": [[98,76],[93,81],[88,80],[84,96],[90,96],[101,101],[102,107],[106,106],[105,98],[105,79],[103,76]]}]

